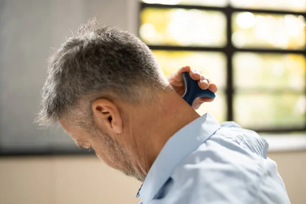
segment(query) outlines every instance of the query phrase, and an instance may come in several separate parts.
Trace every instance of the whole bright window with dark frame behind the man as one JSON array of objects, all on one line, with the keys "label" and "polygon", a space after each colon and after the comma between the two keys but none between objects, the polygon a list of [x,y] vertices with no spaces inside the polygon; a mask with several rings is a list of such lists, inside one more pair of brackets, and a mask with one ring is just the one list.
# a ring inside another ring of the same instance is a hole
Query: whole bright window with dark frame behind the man
[{"label": "whole bright window with dark frame behind the man", "polygon": [[139,36],[165,75],[200,69],[219,86],[219,122],[306,131],[306,1],[143,0]]}]

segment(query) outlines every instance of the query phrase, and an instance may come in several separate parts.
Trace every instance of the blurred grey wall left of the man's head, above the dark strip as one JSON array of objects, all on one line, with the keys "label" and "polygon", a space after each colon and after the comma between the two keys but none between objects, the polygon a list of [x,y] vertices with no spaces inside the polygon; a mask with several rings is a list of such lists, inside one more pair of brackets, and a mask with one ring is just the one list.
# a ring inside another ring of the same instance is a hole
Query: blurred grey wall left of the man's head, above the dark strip
[{"label": "blurred grey wall left of the man's head, above the dark strip", "polygon": [[[27,150],[73,144],[63,131],[37,130],[46,60],[90,17],[137,32],[137,0],[1,0],[0,148]],[[52,139],[50,139],[52,138]],[[73,145],[74,146],[74,145]]]}]

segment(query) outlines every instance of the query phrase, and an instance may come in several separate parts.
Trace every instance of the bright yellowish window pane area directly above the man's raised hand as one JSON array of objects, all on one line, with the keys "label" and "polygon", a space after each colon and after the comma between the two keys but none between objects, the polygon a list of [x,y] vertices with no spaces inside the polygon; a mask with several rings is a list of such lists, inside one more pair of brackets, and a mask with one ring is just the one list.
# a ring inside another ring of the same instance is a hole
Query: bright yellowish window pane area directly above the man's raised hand
[{"label": "bright yellowish window pane area directly above the man's raised hand", "polygon": [[166,51],[152,50],[164,74],[168,75],[182,66],[190,66],[199,69],[219,88],[226,83],[226,57],[217,52],[190,52],[190,51]]}]

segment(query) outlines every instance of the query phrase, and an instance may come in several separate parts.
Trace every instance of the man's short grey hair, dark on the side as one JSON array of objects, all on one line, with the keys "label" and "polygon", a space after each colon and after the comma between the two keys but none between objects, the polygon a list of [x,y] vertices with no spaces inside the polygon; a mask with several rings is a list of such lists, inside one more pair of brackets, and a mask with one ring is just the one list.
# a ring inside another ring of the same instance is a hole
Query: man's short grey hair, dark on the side
[{"label": "man's short grey hair, dark on the side", "polygon": [[142,88],[152,93],[171,89],[148,46],[119,28],[99,28],[92,19],[50,57],[36,122],[52,125],[89,95],[94,100],[114,93],[137,104]]}]

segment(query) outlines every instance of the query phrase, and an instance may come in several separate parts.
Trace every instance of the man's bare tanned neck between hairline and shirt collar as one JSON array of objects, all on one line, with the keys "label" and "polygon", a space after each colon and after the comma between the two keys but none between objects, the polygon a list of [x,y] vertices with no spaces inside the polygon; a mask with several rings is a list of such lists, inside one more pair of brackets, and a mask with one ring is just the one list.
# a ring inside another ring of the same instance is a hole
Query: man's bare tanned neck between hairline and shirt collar
[{"label": "man's bare tanned neck between hairline and shirt collar", "polygon": [[[133,163],[145,175],[156,160],[168,139],[182,127],[200,117],[176,93],[162,93],[160,105],[152,104],[142,109],[135,120],[137,130],[133,148]],[[139,117],[140,116],[140,117]],[[134,121],[135,121],[134,120]]]}]

